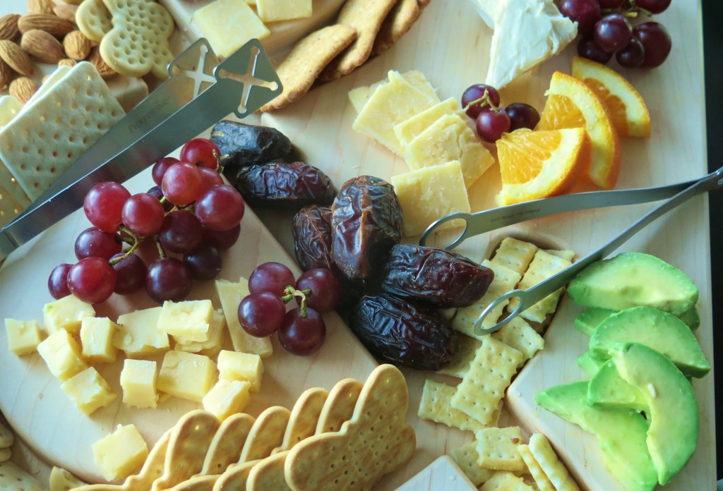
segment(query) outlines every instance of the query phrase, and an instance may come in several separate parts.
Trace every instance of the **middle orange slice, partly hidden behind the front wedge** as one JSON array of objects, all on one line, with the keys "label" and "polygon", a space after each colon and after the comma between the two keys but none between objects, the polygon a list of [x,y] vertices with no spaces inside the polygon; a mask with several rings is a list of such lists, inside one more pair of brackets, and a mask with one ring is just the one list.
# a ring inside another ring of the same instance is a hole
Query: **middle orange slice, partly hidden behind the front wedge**
[{"label": "middle orange slice, partly hidden behind the front wedge", "polygon": [[552,74],[545,93],[547,102],[536,129],[586,129],[592,145],[586,175],[600,188],[615,187],[620,173],[620,139],[605,105],[584,82],[560,71]]}]

